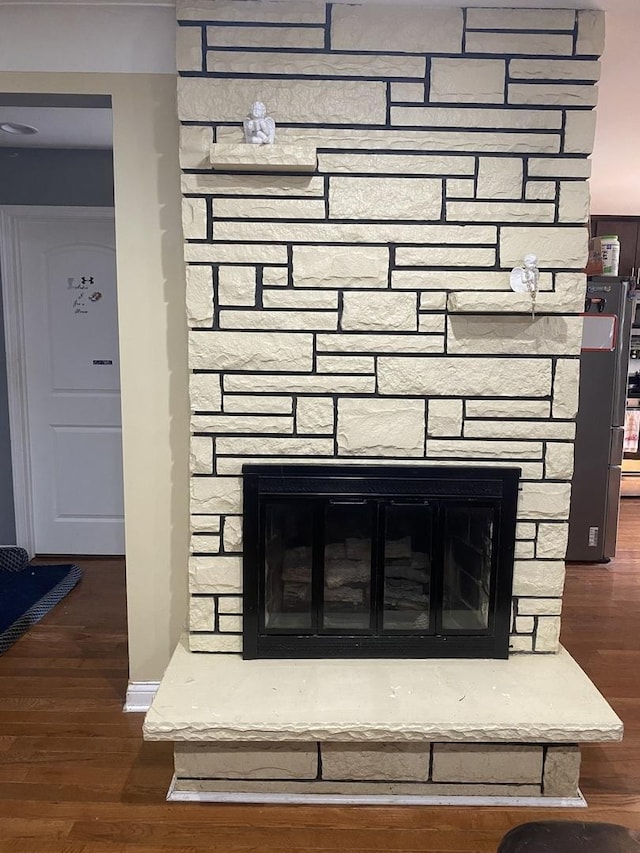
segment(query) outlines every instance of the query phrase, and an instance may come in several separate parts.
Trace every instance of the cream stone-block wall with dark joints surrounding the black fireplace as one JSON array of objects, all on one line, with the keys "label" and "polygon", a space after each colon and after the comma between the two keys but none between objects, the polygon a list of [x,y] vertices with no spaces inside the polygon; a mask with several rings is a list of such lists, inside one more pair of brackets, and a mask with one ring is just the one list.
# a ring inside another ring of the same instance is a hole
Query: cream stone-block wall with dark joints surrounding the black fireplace
[{"label": "cream stone-block wall with dark joints surrounding the black fireplace", "polygon": [[[376,461],[522,467],[511,648],[556,651],[602,14],[178,0],[178,20],[190,648],[241,651],[243,463]],[[253,146],[213,171],[257,99],[284,171],[243,171]],[[535,320],[509,290],[528,252]]]}]

